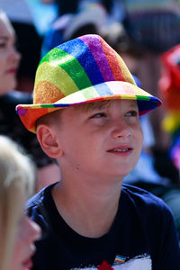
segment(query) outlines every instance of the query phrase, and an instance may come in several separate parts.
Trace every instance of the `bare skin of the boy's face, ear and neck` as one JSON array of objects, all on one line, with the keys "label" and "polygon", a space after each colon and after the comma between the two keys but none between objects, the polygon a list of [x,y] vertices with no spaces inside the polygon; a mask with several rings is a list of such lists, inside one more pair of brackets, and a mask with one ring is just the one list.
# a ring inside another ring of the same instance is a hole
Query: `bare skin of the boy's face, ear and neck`
[{"label": "bare skin of the boy's face, ear and neck", "polygon": [[137,103],[113,100],[88,111],[67,108],[56,121],[38,126],[37,135],[61,166],[62,181],[52,189],[59,213],[79,234],[102,236],[118,210],[122,179],[136,166],[142,148]]}]

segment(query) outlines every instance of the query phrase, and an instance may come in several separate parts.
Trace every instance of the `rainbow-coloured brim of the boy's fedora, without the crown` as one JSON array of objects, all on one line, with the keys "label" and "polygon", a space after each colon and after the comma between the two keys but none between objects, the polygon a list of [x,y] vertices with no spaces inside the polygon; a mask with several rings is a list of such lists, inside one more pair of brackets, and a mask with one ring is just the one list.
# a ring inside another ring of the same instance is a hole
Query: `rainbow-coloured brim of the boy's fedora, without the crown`
[{"label": "rainbow-coloured brim of the boy's fedora, without the crown", "polygon": [[161,101],[137,85],[127,82],[112,81],[87,87],[83,90],[69,94],[56,103],[19,104],[16,112],[19,114],[27,130],[36,132],[36,121],[49,112],[55,112],[69,106],[83,103],[93,103],[112,99],[136,100],[139,106],[139,115],[143,115],[161,105]]}]

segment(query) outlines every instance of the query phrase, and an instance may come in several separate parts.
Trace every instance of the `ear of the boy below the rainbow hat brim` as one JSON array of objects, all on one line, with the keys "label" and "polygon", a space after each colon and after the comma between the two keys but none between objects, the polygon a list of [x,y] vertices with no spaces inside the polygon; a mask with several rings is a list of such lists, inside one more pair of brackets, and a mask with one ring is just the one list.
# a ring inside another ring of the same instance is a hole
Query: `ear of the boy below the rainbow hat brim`
[{"label": "ear of the boy below the rainbow hat brim", "polygon": [[40,124],[36,130],[42,150],[52,158],[62,156],[63,151],[55,137],[54,130],[48,125]]}]

